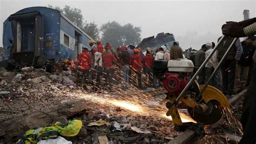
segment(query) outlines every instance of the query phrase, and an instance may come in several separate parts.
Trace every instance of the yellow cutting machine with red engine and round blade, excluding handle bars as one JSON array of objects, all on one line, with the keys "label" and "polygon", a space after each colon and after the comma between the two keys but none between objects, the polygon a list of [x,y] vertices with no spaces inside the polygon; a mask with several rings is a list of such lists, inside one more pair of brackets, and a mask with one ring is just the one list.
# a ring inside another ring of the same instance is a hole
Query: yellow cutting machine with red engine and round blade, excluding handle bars
[{"label": "yellow cutting machine with red engine and round blade, excluding handle bars", "polygon": [[[181,121],[176,104],[179,104],[177,98],[180,93],[190,83],[193,70],[193,62],[188,59],[156,60],[153,64],[154,77],[163,83],[168,92],[165,101],[169,110],[166,115],[172,116],[176,131],[183,131],[186,129],[183,126],[187,126]],[[225,95],[212,86],[207,86],[199,95],[203,87],[204,85],[199,85],[196,80],[192,81],[186,93],[181,95],[178,101],[187,107],[192,119],[204,125],[211,125],[221,118],[223,107],[228,107],[229,104]]]}]

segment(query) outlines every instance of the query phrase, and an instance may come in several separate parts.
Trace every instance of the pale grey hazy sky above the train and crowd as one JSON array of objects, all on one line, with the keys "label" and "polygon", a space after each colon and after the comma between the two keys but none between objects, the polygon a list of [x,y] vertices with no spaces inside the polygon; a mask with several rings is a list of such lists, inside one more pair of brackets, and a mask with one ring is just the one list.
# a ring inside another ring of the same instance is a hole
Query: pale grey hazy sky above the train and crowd
[{"label": "pale grey hazy sky above the train and crowd", "polygon": [[83,11],[84,20],[99,26],[116,20],[142,28],[142,38],[160,32],[173,33],[183,50],[200,49],[207,41],[216,42],[221,25],[226,21],[243,19],[244,9],[256,17],[255,0],[219,1],[60,1],[60,0],[0,0],[0,46],[3,22],[12,13],[30,6],[71,5]]}]

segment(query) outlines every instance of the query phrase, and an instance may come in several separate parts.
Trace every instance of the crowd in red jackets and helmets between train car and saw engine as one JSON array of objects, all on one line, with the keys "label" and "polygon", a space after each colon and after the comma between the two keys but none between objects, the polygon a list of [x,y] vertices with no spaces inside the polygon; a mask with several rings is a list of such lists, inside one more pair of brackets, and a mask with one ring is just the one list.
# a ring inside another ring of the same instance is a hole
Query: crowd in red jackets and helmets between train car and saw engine
[{"label": "crowd in red jackets and helmets between train car and saw engine", "polygon": [[[103,46],[100,40],[90,40],[89,45],[91,50],[83,47],[83,52],[78,56],[77,76],[78,86],[85,90],[88,86],[93,86],[93,92],[97,92],[99,88],[114,91],[114,85],[117,84],[121,84],[123,90],[126,90],[129,84],[141,90],[147,87],[156,88],[161,84],[153,77],[154,60],[184,58],[177,42],[173,43],[171,50],[159,47],[153,52],[147,47],[146,54],[140,47],[131,48],[130,45],[123,45],[114,50],[111,44],[106,43]],[[102,82],[104,84],[100,86]]]}]

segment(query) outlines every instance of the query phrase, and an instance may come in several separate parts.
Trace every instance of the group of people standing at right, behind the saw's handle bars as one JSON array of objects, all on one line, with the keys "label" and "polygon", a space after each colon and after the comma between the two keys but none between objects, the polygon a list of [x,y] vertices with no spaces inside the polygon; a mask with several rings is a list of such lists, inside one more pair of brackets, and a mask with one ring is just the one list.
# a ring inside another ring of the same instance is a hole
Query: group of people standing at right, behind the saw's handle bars
[{"label": "group of people standing at right, behind the saw's handle bars", "polygon": [[[226,36],[219,44],[219,49],[198,74],[199,85],[206,83],[233,40],[234,38]],[[250,83],[250,69],[252,70],[253,67],[253,54],[255,51],[255,45],[252,44],[254,40],[255,37],[253,36],[246,38],[242,42],[238,39],[227,53],[223,63],[221,63],[220,70],[213,75],[209,83],[209,85],[219,88],[227,98],[231,98],[238,90],[244,89]],[[196,71],[214,48],[215,43],[207,42],[201,46],[199,51],[193,54]]]}]

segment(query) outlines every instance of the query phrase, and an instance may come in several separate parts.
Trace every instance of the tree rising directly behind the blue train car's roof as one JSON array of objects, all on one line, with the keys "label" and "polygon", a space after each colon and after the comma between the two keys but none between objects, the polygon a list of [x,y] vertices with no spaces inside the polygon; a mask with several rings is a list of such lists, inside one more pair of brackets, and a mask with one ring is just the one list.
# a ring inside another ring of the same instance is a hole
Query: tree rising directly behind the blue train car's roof
[{"label": "tree rising directly behind the blue train car's roof", "polygon": [[82,10],[77,8],[71,8],[69,5],[65,5],[63,9],[59,8],[59,6],[53,7],[52,5],[48,5],[51,9],[56,9],[63,13],[65,17],[67,17],[71,22],[76,24],[78,28],[83,30],[87,35],[89,35],[92,39],[99,39],[99,28],[95,22],[86,23],[83,22],[84,17],[82,15]]}]

